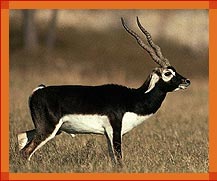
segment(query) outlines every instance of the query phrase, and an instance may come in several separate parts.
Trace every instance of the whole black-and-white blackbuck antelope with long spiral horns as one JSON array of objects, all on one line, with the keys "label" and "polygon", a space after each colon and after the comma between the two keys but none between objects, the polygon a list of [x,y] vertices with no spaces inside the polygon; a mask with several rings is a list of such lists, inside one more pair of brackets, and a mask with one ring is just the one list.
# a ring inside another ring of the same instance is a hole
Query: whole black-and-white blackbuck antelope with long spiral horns
[{"label": "whole black-and-white blackbuck antelope with long spiral horns", "polygon": [[102,134],[108,141],[111,159],[121,163],[122,136],[152,116],[168,92],[185,89],[190,81],[176,72],[153,41],[150,33],[137,24],[146,36],[132,31],[121,18],[123,27],[159,65],[137,88],[121,85],[81,86],[40,85],[29,98],[35,129],[18,135],[19,149],[24,157],[31,156],[61,132]]}]

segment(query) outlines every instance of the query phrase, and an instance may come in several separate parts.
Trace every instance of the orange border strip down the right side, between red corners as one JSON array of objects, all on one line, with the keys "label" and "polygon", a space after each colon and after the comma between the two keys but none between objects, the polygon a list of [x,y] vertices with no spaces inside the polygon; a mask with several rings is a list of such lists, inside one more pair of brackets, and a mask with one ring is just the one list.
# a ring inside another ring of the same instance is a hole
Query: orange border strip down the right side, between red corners
[{"label": "orange border strip down the right side, between red corners", "polygon": [[[217,7],[217,6],[216,6]],[[217,148],[217,134],[216,130],[214,129],[217,127],[215,118],[216,118],[216,102],[217,102],[217,72],[214,67],[217,67],[217,54],[216,54],[216,40],[217,40],[217,25],[216,25],[216,19],[217,19],[217,9],[210,9],[209,10],[209,21],[210,21],[210,37],[209,37],[209,171],[211,173],[217,173],[217,154],[216,154],[216,148]],[[214,174],[213,174],[214,175]],[[217,178],[217,175],[216,175]]]}]

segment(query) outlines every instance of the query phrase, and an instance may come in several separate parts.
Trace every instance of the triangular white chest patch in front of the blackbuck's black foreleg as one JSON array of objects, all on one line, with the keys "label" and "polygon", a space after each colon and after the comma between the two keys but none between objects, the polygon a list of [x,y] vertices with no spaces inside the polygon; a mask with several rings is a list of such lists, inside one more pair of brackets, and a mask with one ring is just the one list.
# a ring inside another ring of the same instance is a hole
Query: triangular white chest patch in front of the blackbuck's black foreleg
[{"label": "triangular white chest patch in front of the blackbuck's black foreleg", "polygon": [[134,127],[141,124],[143,121],[151,117],[152,114],[146,115],[146,116],[139,116],[132,112],[126,112],[122,119],[122,130],[121,135],[124,135],[125,133],[129,132]]}]

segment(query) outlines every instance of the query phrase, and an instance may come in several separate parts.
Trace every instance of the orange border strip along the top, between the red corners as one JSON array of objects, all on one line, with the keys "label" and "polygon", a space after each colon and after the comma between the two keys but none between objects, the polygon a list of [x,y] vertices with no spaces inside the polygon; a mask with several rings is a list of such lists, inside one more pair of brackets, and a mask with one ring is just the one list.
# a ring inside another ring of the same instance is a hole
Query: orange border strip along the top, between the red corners
[{"label": "orange border strip along the top, between the red corners", "polygon": [[10,9],[208,9],[207,1],[10,1]]}]

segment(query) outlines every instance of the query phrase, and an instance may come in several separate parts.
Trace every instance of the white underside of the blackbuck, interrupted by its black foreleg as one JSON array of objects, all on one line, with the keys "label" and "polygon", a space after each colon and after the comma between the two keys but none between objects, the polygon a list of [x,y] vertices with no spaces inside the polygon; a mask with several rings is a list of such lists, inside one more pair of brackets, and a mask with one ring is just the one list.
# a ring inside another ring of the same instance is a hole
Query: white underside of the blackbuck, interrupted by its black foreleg
[{"label": "white underside of the blackbuck, interrupted by its black foreleg", "polygon": [[[133,112],[126,112],[122,118],[121,135],[129,132],[134,127],[148,119],[150,115],[139,116]],[[60,130],[69,134],[95,133],[105,134],[105,130],[111,130],[111,124],[106,115],[82,115],[71,114],[61,118],[63,124]]]}]

